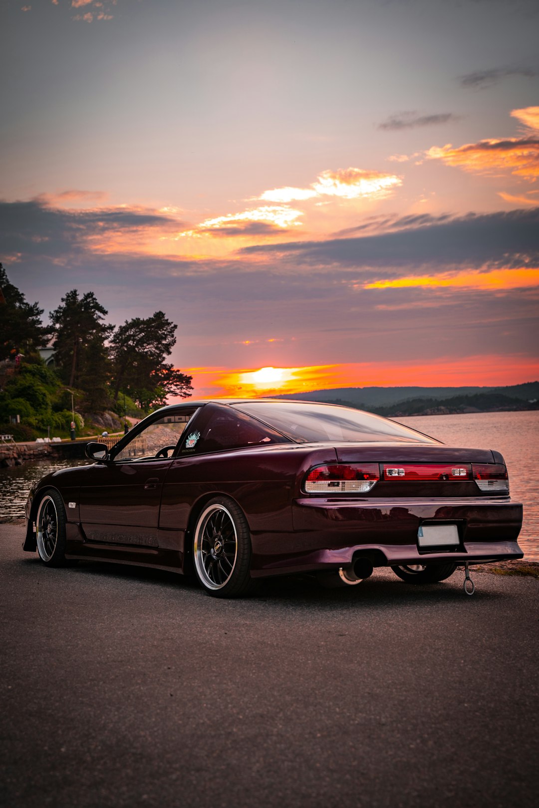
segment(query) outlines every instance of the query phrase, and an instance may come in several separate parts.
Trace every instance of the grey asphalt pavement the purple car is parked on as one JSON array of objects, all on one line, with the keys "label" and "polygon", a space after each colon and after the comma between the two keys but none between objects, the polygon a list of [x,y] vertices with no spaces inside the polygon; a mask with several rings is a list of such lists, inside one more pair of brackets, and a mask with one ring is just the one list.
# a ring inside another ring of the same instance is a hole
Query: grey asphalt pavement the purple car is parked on
[{"label": "grey asphalt pavement the purple car is parked on", "polygon": [[22,538],[0,525],[2,805],[537,805],[538,581],[222,601]]}]

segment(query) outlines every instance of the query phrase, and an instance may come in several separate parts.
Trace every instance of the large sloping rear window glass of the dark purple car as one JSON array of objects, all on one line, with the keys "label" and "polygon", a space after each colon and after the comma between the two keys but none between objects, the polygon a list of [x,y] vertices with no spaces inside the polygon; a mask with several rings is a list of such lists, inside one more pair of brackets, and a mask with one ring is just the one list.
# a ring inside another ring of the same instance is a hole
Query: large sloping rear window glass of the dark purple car
[{"label": "large sloping rear window glass of the dark purple car", "polygon": [[345,440],[371,443],[395,441],[409,444],[438,444],[440,441],[403,427],[380,415],[333,404],[307,402],[246,402],[234,404],[297,443],[326,443]]}]

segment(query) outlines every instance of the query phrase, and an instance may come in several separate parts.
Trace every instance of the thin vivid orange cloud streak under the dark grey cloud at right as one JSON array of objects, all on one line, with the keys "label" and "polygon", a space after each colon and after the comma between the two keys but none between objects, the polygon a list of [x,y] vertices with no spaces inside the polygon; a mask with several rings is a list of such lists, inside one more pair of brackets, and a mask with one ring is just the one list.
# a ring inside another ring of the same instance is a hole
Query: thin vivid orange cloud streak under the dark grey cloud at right
[{"label": "thin vivid orange cloud streak under the dark grey cloud at right", "polygon": [[364,289],[402,289],[414,287],[452,287],[467,289],[520,289],[539,286],[539,269],[493,269],[491,271],[465,270],[442,272],[439,275],[416,275],[388,280],[374,280],[370,284],[354,284]]}]

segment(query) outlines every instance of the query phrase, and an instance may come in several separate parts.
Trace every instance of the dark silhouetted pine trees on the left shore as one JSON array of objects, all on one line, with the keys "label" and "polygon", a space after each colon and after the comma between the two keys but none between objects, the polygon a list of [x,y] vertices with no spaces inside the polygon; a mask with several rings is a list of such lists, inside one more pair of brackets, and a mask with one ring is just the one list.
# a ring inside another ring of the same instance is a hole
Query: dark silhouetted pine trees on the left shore
[{"label": "dark silhouetted pine trees on the left shore", "polygon": [[[19,377],[32,376],[32,367],[36,376],[36,366],[43,364],[38,348],[47,345],[54,350],[57,382],[75,391],[83,412],[114,409],[120,414],[124,397],[147,412],[168,396],[191,395],[192,377],[166,362],[177,326],[164,312],[115,326],[107,322],[107,309],[94,292],[81,295],[71,289],[50,312],[48,324],[41,320],[43,313],[38,303],[27,302],[0,263],[0,423],[6,421],[10,391],[16,392],[18,381],[21,386]],[[53,377],[46,369],[50,387]]]}]

